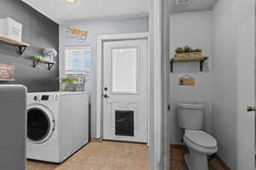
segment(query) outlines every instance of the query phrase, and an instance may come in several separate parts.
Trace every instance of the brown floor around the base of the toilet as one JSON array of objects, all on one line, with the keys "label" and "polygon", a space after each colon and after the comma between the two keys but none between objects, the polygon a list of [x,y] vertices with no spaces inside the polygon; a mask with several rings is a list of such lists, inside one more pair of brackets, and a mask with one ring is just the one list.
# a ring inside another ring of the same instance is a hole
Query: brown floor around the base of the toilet
[{"label": "brown floor around the base of the toilet", "polygon": [[[172,170],[188,170],[184,155],[188,150],[184,146],[171,146],[171,169]],[[217,157],[209,161],[209,170],[230,170],[224,167]]]}]

